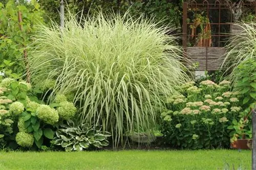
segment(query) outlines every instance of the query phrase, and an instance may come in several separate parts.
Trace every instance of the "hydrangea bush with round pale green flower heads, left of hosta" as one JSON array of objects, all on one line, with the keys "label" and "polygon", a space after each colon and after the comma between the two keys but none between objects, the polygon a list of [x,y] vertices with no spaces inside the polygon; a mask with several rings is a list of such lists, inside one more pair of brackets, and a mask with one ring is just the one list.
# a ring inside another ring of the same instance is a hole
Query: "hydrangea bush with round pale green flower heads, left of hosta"
[{"label": "hydrangea bush with round pale green flower heads, left of hosta", "polygon": [[[24,81],[6,78],[0,82],[0,148],[9,147],[10,143],[16,141],[21,147],[29,148],[35,143],[40,149],[43,142],[47,141],[45,139],[53,139],[52,125],[58,122],[58,112],[49,105],[31,101],[35,99],[32,91],[31,85]],[[33,98],[30,99],[28,95]],[[75,107],[72,103],[58,105],[59,108],[54,107],[60,114],[67,114],[62,119],[73,118]]]}]

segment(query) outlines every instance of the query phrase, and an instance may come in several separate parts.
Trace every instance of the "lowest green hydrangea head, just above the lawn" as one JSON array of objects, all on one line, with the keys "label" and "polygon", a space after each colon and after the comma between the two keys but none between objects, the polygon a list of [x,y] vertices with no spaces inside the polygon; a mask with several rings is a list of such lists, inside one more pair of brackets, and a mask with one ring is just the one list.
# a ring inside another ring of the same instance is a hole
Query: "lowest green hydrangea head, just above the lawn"
[{"label": "lowest green hydrangea head, just above the lawn", "polygon": [[26,132],[18,132],[16,134],[16,142],[21,147],[32,147],[34,143],[34,136]]}]

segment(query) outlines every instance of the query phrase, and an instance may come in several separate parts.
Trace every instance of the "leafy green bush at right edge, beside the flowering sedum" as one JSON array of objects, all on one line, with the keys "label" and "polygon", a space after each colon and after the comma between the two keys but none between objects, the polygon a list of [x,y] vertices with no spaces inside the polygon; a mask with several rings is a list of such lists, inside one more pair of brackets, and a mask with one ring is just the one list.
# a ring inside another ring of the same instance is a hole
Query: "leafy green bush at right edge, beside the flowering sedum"
[{"label": "leafy green bush at right edge, beside the flowering sedum", "polygon": [[231,131],[231,142],[238,138],[252,137],[252,110],[256,107],[256,61],[248,59],[241,62],[234,71],[234,89],[240,91],[244,111],[240,120],[234,120],[228,127]]}]

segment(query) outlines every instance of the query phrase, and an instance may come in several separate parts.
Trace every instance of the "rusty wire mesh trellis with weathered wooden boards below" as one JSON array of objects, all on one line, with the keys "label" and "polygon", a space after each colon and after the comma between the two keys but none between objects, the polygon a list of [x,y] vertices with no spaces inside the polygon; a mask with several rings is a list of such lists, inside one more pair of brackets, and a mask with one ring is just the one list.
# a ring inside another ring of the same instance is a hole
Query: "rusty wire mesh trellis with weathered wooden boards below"
[{"label": "rusty wire mesh trellis with weathered wooden boards below", "polygon": [[[199,63],[197,70],[217,70],[229,33],[239,32],[233,22],[254,18],[255,3],[208,0],[183,3],[183,47]],[[252,2],[253,1],[253,2]]]}]

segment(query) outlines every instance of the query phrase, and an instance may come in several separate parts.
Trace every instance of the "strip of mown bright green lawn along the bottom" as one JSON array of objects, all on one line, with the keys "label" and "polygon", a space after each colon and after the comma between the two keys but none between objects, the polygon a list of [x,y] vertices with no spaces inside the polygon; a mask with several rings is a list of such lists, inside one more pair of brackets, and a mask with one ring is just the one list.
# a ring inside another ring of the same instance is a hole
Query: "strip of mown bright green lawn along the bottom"
[{"label": "strip of mown bright green lawn along the bottom", "polygon": [[[228,168],[229,165],[229,168]],[[251,151],[0,152],[0,169],[251,169]]]}]

